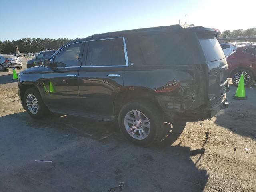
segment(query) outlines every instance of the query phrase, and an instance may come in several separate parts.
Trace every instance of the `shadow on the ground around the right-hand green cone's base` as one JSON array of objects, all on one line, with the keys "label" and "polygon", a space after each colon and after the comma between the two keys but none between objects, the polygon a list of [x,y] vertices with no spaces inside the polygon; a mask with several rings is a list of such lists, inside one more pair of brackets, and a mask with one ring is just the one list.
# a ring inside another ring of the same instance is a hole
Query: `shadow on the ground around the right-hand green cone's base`
[{"label": "shadow on the ground around the right-hand green cone's base", "polygon": [[247,100],[233,99],[236,89],[236,86],[230,85],[230,92],[227,93],[229,107],[217,114],[214,123],[236,134],[256,139],[256,84],[246,87]]}]

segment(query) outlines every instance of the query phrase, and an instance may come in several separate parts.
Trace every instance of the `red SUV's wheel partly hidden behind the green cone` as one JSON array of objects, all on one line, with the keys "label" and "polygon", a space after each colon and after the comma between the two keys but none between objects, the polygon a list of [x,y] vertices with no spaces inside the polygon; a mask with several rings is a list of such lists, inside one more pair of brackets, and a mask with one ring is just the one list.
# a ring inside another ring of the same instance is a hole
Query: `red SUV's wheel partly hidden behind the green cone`
[{"label": "red SUV's wheel partly hidden behind the green cone", "polygon": [[234,70],[234,72],[232,72],[231,79],[233,84],[235,86],[238,86],[240,75],[242,73],[244,73],[244,86],[250,86],[250,84],[253,82],[253,74],[250,70],[243,69],[243,68]]}]

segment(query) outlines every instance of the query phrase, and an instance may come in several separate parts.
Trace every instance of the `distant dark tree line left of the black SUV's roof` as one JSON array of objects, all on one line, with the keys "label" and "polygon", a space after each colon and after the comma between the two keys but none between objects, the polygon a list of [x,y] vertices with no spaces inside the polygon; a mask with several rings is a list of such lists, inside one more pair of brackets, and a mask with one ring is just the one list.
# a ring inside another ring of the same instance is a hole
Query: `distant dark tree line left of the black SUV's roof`
[{"label": "distant dark tree line left of the black SUV's roof", "polygon": [[[77,38],[76,38],[77,39]],[[0,53],[10,54],[15,53],[15,45],[18,45],[20,53],[40,52],[44,49],[58,50],[65,43],[73,39],[59,38],[59,39],[40,39],[40,38],[24,38],[17,41],[0,41]]]}]

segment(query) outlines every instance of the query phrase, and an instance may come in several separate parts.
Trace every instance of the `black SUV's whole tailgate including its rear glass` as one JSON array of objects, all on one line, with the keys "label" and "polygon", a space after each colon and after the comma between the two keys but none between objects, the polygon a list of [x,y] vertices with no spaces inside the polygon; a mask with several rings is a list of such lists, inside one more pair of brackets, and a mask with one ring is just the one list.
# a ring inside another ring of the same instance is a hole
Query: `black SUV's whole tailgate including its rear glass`
[{"label": "black SUV's whole tailgate including its rear glass", "polygon": [[208,102],[214,104],[226,90],[228,64],[214,34],[197,33],[208,68]]}]

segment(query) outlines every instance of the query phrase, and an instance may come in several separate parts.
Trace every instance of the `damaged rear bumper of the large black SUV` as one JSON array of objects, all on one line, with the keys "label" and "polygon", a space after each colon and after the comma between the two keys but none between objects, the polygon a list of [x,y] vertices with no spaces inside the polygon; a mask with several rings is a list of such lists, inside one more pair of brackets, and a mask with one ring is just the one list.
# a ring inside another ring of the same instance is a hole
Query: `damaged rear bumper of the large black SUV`
[{"label": "damaged rear bumper of the large black SUV", "polygon": [[228,108],[229,103],[226,99],[226,93],[212,106],[202,106],[196,109],[189,109],[184,112],[175,112],[173,110],[164,110],[167,120],[195,122],[210,119],[224,108]]}]

